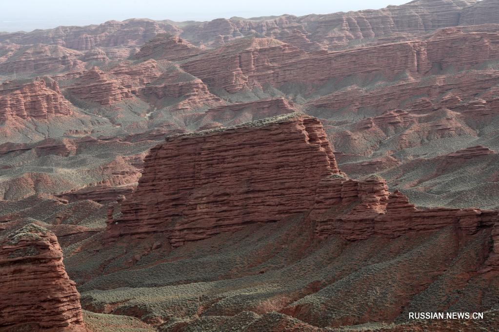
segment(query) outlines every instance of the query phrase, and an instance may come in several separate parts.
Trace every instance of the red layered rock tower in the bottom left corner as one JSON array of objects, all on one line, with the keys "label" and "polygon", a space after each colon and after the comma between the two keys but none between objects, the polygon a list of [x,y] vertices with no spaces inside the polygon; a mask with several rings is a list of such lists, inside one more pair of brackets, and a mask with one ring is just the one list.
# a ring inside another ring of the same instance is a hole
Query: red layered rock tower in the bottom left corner
[{"label": "red layered rock tower in the bottom left corner", "polygon": [[86,332],[55,235],[27,224],[1,239],[0,330]]}]

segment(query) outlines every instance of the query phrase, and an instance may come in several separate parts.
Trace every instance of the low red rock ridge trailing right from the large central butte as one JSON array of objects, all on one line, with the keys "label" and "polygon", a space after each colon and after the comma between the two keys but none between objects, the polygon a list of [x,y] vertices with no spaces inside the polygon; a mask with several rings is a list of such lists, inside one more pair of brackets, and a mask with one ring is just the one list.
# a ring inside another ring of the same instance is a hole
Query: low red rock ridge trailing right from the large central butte
[{"label": "low red rock ridge trailing right from the large central butte", "polygon": [[418,210],[399,191],[388,194],[382,178],[361,181],[339,176],[326,178],[317,189],[316,204],[308,218],[316,223],[319,236],[340,234],[349,240],[364,239],[373,234],[396,237],[449,225],[473,234],[499,220],[498,211],[493,210]]}]

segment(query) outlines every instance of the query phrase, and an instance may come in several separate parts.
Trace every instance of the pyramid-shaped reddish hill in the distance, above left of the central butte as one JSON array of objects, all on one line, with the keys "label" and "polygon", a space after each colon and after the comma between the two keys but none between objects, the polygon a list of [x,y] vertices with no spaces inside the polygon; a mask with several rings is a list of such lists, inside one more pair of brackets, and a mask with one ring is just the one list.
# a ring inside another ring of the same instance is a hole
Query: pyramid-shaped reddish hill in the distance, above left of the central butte
[{"label": "pyramid-shaped reddish hill in the distance, above left of the central butte", "polygon": [[202,53],[203,50],[179,36],[158,34],[142,46],[135,59],[166,59],[180,61]]}]

